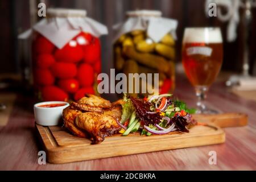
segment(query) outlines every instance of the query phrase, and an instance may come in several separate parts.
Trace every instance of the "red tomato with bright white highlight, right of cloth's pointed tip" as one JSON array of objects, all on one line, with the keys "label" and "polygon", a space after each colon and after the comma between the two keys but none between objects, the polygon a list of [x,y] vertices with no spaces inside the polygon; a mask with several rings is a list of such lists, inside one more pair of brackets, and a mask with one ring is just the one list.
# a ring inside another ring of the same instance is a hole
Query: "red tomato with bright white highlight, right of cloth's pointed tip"
[{"label": "red tomato with bright white highlight, right of cloth's pointed tip", "polygon": [[54,57],[59,62],[77,63],[84,57],[84,51],[75,40],[71,40],[63,48],[57,49]]}]

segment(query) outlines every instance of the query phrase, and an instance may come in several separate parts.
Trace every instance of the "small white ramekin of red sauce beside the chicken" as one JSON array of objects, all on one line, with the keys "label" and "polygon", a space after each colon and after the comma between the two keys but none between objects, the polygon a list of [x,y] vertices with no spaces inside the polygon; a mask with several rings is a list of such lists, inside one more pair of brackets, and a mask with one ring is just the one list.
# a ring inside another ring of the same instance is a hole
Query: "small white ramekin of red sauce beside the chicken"
[{"label": "small white ramekin of red sauce beside the chicken", "polygon": [[[40,105],[48,104],[66,104],[59,107],[39,107]],[[59,125],[62,118],[62,111],[68,107],[68,102],[48,101],[39,102],[34,105],[35,121],[42,126],[56,126]]]}]

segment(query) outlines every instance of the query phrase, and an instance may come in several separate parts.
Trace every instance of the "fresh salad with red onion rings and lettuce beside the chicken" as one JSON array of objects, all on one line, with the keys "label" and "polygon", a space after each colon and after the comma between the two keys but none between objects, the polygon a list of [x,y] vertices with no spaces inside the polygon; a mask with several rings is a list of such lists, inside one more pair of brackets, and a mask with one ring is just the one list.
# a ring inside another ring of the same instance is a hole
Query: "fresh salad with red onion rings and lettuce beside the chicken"
[{"label": "fresh salad with red onion rings and lettuce beside the chicken", "polygon": [[136,131],[141,135],[167,134],[172,131],[189,132],[196,125],[185,102],[173,100],[172,94],[160,94],[145,98],[123,97],[122,118],[119,133],[126,136]]}]

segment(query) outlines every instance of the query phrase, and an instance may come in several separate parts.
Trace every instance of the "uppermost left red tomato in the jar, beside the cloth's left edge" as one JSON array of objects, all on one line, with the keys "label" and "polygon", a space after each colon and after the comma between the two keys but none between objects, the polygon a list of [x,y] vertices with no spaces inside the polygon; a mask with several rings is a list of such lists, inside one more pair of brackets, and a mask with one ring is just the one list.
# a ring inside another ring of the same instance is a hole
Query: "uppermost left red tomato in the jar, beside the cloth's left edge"
[{"label": "uppermost left red tomato in the jar, beside the cloth's left edge", "polygon": [[52,53],[55,49],[55,46],[49,42],[44,36],[39,35],[35,40],[35,52],[36,53]]}]

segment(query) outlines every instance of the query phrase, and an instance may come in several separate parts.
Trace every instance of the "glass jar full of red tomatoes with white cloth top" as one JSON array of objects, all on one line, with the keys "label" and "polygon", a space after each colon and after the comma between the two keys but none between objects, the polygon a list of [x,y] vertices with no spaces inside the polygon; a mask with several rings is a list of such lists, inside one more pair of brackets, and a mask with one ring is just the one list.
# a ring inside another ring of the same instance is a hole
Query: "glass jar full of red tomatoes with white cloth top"
[{"label": "glass jar full of red tomatoes with white cloth top", "polygon": [[[41,28],[42,31],[39,27],[34,27],[34,87],[43,101],[79,100],[86,93],[98,94],[97,75],[101,72],[100,39],[92,32],[76,30],[73,24],[77,18],[84,19],[85,14],[84,10],[50,9],[46,27],[49,28],[51,23],[56,23],[60,18],[60,25],[57,26],[63,28],[58,27],[56,32],[51,32],[44,30],[44,27]],[[79,26],[83,24],[85,23]],[[70,27],[65,30],[65,26]]]}]

